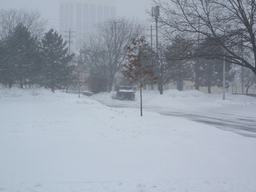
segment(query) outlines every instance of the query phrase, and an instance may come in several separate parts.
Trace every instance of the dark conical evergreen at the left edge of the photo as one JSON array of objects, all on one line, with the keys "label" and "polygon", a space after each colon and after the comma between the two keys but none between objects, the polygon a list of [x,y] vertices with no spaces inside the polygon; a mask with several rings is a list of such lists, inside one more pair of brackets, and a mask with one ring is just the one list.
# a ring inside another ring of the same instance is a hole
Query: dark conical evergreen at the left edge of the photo
[{"label": "dark conical evergreen at the left edge of the photo", "polygon": [[35,62],[38,58],[38,41],[31,37],[31,33],[20,23],[2,41],[1,81],[12,87],[19,82],[20,88],[32,81],[36,70]]}]

